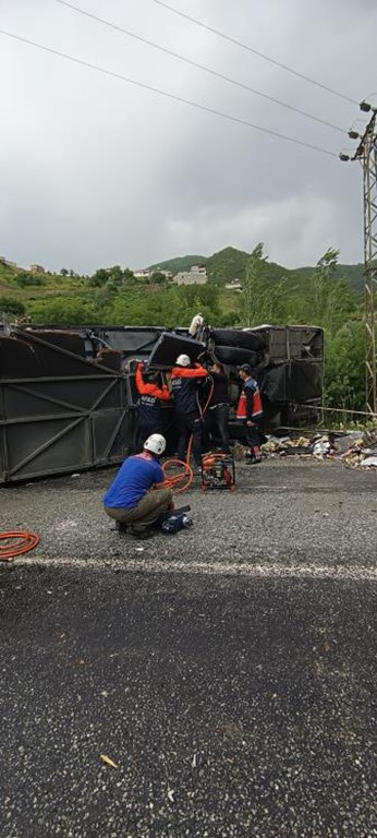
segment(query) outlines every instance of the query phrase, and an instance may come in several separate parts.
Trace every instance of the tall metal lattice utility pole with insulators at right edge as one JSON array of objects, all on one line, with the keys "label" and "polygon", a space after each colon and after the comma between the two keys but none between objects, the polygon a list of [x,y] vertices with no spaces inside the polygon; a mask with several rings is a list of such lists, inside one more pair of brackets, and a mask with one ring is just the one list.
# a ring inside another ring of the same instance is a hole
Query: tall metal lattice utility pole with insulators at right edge
[{"label": "tall metal lattice utility pole with insulators at right edge", "polygon": [[377,108],[367,101],[360,104],[360,109],[368,113],[369,122],[364,133],[352,129],[351,140],[358,140],[355,154],[339,155],[341,160],[360,160],[363,167],[364,202],[364,299],[365,299],[365,402],[369,414],[377,414],[377,316],[375,297],[377,292]]}]

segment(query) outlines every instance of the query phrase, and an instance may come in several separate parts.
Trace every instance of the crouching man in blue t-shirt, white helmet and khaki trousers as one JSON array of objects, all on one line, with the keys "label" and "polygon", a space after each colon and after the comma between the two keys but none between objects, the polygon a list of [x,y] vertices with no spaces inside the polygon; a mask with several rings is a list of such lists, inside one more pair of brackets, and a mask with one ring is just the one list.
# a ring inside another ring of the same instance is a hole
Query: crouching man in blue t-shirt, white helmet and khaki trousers
[{"label": "crouching man in blue t-shirt, white helmet and khaki trousers", "polygon": [[172,491],[163,488],[159,463],[166,445],[160,433],[148,436],[142,453],[124,460],[104,498],[105,512],[117,520],[118,528],[136,538],[149,538],[153,525],[172,508]]}]

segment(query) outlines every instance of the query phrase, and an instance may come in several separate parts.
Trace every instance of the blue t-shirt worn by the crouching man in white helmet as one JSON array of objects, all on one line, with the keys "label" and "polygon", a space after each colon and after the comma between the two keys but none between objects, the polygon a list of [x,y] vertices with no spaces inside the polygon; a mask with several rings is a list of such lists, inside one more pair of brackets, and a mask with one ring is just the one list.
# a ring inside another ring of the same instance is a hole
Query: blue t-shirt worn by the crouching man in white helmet
[{"label": "blue t-shirt worn by the crouching man in white helmet", "polygon": [[124,460],[104,505],[115,510],[133,510],[155,483],[163,483],[165,475],[158,460],[134,456]]}]

